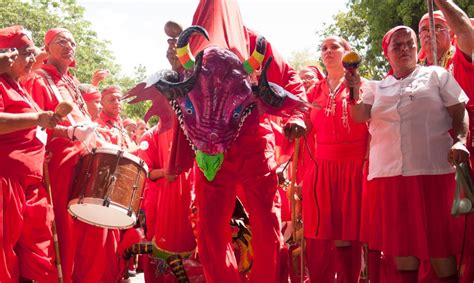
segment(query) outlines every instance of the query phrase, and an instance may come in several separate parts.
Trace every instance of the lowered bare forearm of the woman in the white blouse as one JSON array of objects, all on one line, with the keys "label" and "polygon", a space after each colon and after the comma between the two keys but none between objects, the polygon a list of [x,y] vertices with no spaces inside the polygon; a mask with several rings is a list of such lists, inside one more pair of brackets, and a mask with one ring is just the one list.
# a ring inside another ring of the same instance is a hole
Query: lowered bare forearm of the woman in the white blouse
[{"label": "lowered bare forearm of the woman in the white blouse", "polygon": [[466,137],[469,128],[469,118],[467,116],[464,103],[458,103],[448,108],[451,116],[452,128],[454,132],[454,145],[448,155],[451,163],[469,162],[469,151],[466,149]]}]

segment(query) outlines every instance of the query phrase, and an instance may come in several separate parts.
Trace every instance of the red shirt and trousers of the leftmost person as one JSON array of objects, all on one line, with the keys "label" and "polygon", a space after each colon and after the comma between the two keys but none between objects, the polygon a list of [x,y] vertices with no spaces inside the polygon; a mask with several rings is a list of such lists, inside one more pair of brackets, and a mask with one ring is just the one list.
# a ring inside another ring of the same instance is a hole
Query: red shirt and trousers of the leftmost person
[{"label": "red shirt and trousers of the leftmost person", "polygon": [[[37,112],[26,91],[0,75],[0,112]],[[0,135],[0,281],[55,280],[53,213],[42,185],[44,144],[38,127]]]}]

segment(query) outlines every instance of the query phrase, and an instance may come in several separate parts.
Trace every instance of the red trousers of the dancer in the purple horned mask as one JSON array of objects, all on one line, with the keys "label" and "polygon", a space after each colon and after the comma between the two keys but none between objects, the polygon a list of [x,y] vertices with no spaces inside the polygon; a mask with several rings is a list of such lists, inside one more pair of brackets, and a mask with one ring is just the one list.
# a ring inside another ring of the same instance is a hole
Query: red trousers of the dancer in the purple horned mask
[{"label": "red trousers of the dancer in the purple horned mask", "polygon": [[249,279],[251,282],[278,281],[282,236],[280,211],[274,206],[277,177],[270,170],[270,158],[252,149],[248,146],[245,152],[228,152],[212,182],[196,172],[198,250],[206,282],[241,281],[229,225],[237,184],[244,190],[245,208],[252,227],[254,261]]}]

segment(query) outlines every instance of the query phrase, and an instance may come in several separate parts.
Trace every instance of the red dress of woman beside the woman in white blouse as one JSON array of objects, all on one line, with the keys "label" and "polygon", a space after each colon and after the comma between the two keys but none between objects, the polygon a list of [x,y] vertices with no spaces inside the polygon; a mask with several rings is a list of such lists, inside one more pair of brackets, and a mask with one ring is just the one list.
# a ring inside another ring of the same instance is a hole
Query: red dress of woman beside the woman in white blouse
[{"label": "red dress of woman beside the woman in white blouse", "polygon": [[[344,85],[336,90],[334,100],[326,80],[317,83],[314,92],[314,101],[322,108],[311,113],[316,163],[303,181],[304,234],[321,240],[357,241],[368,129],[353,122],[347,105],[343,107],[348,95]],[[329,113],[332,104],[334,115]]]}]

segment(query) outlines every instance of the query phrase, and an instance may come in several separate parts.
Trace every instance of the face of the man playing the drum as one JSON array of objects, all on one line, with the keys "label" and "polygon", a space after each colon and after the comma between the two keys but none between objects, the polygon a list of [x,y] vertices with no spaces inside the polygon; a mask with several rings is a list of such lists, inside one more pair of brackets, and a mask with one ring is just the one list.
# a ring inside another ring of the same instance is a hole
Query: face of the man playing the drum
[{"label": "face of the man playing the drum", "polygon": [[48,59],[68,67],[74,62],[76,41],[69,32],[61,32],[46,46]]}]

